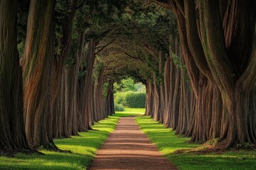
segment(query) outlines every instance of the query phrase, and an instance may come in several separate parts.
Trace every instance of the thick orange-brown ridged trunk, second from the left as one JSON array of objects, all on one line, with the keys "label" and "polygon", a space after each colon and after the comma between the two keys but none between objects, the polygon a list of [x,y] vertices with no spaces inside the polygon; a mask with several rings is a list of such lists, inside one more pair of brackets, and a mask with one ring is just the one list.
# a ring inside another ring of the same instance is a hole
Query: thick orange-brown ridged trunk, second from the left
[{"label": "thick orange-brown ridged trunk, second from the left", "polygon": [[55,1],[31,1],[24,52],[24,115],[31,147],[49,147],[51,64],[53,63],[53,9]]}]

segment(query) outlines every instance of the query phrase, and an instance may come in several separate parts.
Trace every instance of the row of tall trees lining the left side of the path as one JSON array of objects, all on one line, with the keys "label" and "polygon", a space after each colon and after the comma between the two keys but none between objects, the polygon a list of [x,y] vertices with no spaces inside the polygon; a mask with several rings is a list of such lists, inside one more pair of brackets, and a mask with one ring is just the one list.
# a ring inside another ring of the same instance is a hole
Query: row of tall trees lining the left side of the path
[{"label": "row of tall trees lining the left side of the path", "polygon": [[78,135],[114,113],[112,87],[103,96],[103,68],[95,63],[112,29],[93,30],[119,5],[0,1],[1,153],[58,149],[53,138]]}]

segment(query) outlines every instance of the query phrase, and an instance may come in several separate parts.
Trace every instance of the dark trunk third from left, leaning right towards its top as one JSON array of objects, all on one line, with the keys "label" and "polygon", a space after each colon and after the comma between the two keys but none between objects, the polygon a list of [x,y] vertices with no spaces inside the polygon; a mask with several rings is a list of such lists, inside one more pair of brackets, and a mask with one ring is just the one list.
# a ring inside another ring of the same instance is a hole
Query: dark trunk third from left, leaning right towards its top
[{"label": "dark trunk third from left, leaning right towards its top", "polygon": [[[71,110],[73,110],[73,108],[75,109],[75,106],[73,107],[73,105],[75,103],[73,103],[74,100],[69,102],[68,96],[65,97],[65,93],[62,94],[63,90],[61,90],[63,88],[61,81],[63,81],[64,64],[68,58],[68,54],[70,51],[71,40],[72,40],[71,35],[72,35],[72,30],[73,30],[72,29],[73,28],[73,20],[75,17],[75,11],[76,11],[76,7],[78,4],[78,0],[68,0],[67,3],[68,3],[67,4],[68,12],[66,13],[66,15],[64,17],[63,26],[62,26],[62,28],[63,28],[62,36],[59,38],[58,45],[57,45],[57,48],[58,48],[58,50],[60,50],[60,52],[58,55],[55,56],[56,59],[53,60],[53,67],[52,67],[52,76],[53,77],[52,77],[51,85],[50,85],[51,86],[51,89],[50,89],[50,95],[51,95],[50,113],[52,113],[52,115],[53,115],[52,124],[53,124],[55,131],[63,130],[63,132],[58,132],[58,133],[53,132],[53,137],[68,137],[70,134],[75,135],[77,133],[77,132],[75,132],[76,131],[75,127],[69,128],[69,130],[66,130],[68,115],[65,115],[65,112],[69,112],[69,111],[66,111],[65,109],[68,109],[69,107],[71,107],[70,108]],[[66,76],[67,76],[67,73],[66,73]],[[70,79],[72,79],[72,78],[75,79],[75,77],[70,77]],[[65,80],[66,80],[65,82],[67,83],[67,79],[65,79]],[[73,82],[73,80],[70,80],[70,82],[75,83],[75,80],[74,80],[74,82]],[[71,91],[72,90],[73,89],[71,89]],[[73,94],[70,94],[70,95],[73,95]],[[63,98],[65,98],[65,100],[67,100],[67,101],[63,101]],[[61,101],[63,101],[63,103],[61,103]],[[68,106],[66,106],[65,103],[68,103]],[[61,119],[61,118],[63,118],[63,119]],[[67,119],[65,120],[65,118],[67,118]],[[71,118],[71,120],[73,120],[73,121],[71,121],[71,123],[69,125],[71,127],[74,125],[75,115],[70,116],[70,118]],[[64,120],[64,121],[61,121],[61,123],[56,122],[58,120]],[[56,125],[56,123],[57,123],[57,125]],[[58,125],[61,125],[61,127],[58,128],[57,127]],[[65,126],[66,128],[64,128],[63,126]],[[56,129],[56,128],[58,128],[58,129]]]}]

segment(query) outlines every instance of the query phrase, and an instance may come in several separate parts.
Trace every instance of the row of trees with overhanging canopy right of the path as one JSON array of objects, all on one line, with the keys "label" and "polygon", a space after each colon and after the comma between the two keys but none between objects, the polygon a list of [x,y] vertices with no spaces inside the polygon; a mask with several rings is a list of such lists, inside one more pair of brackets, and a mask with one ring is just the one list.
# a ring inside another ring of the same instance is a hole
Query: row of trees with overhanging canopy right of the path
[{"label": "row of trees with overhanging canopy right of the path", "polygon": [[129,69],[108,75],[142,81],[146,115],[177,135],[221,148],[255,144],[255,1],[154,2],[166,10],[130,6],[123,16],[127,31],[107,55]]}]

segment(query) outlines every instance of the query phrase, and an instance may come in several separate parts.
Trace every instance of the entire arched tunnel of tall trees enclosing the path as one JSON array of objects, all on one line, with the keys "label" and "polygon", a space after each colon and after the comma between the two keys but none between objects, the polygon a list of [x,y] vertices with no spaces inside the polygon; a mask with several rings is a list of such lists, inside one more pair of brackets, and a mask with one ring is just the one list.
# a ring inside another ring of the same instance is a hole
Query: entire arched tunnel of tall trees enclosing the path
[{"label": "entire arched tunnel of tall trees enclosing the path", "polygon": [[146,86],[145,115],[176,135],[255,145],[255,10],[253,0],[0,1],[1,152],[58,149],[54,138],[90,130],[114,114],[113,84],[127,76]]}]

